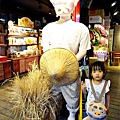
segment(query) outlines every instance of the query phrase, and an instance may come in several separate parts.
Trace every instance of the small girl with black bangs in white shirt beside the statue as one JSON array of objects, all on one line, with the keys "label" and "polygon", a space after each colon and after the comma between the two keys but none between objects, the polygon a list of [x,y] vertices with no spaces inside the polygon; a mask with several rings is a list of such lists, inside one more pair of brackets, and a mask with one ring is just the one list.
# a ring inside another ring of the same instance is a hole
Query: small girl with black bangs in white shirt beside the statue
[{"label": "small girl with black bangs in white shirt beside the statue", "polygon": [[[96,96],[99,97],[103,86],[105,84],[105,81],[103,78],[106,74],[106,69],[104,66],[103,62],[97,61],[94,62],[91,66],[90,66],[90,78],[89,79],[85,79],[85,82],[82,84],[82,90],[83,93],[88,93],[87,95],[87,102],[86,102],[86,113],[88,113],[88,108],[89,105],[92,101],[95,100],[92,89],[91,89],[91,85],[90,85],[90,81],[92,81],[93,84],[93,88],[95,90]],[[106,114],[108,114],[109,112],[109,105],[110,105],[110,80],[108,80],[103,97],[102,97],[102,103],[105,105],[106,107]],[[96,120],[92,117],[90,117],[87,114],[87,117],[85,117],[83,120]],[[99,120],[105,120],[105,119],[99,119]]]}]

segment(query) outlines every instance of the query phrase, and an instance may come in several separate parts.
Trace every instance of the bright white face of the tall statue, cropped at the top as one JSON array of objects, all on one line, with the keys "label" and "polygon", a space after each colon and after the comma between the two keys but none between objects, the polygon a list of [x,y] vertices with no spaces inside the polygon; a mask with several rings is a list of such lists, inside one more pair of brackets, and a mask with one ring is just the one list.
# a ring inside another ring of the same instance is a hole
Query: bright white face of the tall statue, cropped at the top
[{"label": "bright white face of the tall statue, cropped at the top", "polygon": [[70,15],[75,7],[76,0],[50,0],[55,8],[57,16],[68,16]]}]

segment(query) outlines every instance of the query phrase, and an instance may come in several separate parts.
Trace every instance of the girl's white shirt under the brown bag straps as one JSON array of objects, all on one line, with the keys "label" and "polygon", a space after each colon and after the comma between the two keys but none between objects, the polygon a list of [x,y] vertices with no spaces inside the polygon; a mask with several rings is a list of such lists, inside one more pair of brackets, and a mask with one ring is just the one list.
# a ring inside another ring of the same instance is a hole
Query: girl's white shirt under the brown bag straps
[{"label": "girl's white shirt under the brown bag straps", "polygon": [[[92,92],[92,89],[91,89],[90,80],[89,79],[85,79],[85,83],[86,83],[87,92],[88,92],[87,102],[86,102],[86,110],[88,110],[89,104],[92,101],[94,101],[95,98],[94,98],[94,95],[93,95],[93,92]],[[92,84],[93,84],[96,96],[99,98],[99,96],[100,96],[100,94],[102,92],[103,86],[105,84],[105,80],[102,80],[102,83],[100,85],[95,85],[93,82],[92,82]],[[102,97],[102,103],[104,105],[105,105],[105,94],[110,91],[109,87],[110,87],[110,80],[108,80],[105,92],[104,92],[103,97]]]}]

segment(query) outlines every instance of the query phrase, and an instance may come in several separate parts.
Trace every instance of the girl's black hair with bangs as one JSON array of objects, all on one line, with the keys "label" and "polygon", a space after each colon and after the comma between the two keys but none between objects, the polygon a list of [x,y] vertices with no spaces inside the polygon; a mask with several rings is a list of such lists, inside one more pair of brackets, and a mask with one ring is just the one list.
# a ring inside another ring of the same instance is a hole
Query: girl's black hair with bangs
[{"label": "girl's black hair with bangs", "polygon": [[92,63],[89,67],[89,78],[92,79],[93,77],[91,76],[92,74],[92,71],[95,71],[95,70],[102,70],[103,71],[103,78],[105,77],[105,73],[106,73],[106,68],[105,68],[105,65],[104,65],[104,62],[101,62],[101,61],[96,61],[94,63]]}]

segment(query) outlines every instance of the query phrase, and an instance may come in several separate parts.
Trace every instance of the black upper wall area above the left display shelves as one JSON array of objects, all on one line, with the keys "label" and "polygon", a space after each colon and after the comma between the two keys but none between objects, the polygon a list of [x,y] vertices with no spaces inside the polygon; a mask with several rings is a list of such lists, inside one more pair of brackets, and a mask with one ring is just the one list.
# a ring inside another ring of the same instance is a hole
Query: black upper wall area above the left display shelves
[{"label": "black upper wall area above the left display shelves", "polygon": [[[31,9],[28,8],[28,6],[24,6],[21,4],[19,4],[19,7],[17,6],[18,6],[17,2],[10,4],[10,1],[6,1],[6,2],[4,2],[4,0],[0,1],[0,20],[1,18],[5,19],[4,23],[6,25],[9,20],[13,20],[15,24],[17,24],[18,18],[28,17],[33,22],[35,20],[40,21],[41,28],[43,28],[47,23],[56,20],[55,16],[42,13],[42,12],[38,12],[38,11],[36,12],[32,8]],[[43,17],[45,18],[46,22],[43,21]]]}]

